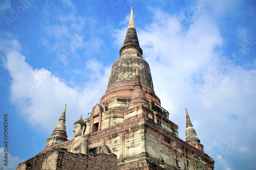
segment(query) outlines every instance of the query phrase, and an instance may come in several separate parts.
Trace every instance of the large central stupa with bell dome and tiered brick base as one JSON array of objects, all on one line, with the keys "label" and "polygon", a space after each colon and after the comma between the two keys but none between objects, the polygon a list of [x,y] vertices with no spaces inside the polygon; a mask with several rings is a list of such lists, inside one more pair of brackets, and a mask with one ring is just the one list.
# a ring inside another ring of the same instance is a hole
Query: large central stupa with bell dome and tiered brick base
[{"label": "large central stupa with bell dome and tiered brick base", "polygon": [[191,125],[185,142],[161,107],[150,67],[142,58],[133,8],[119,54],[100,104],[84,119],[90,127],[89,148],[108,145],[117,155],[119,169],[214,169],[200,140],[191,138]]}]

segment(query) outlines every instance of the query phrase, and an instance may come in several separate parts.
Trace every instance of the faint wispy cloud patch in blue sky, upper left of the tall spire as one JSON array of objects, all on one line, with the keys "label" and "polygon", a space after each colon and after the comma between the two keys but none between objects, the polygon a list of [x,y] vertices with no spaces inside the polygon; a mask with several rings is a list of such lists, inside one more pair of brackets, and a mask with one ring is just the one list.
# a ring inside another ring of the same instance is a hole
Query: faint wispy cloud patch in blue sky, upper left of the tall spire
[{"label": "faint wispy cloud patch in blue sky, upper left of the tall spire", "polygon": [[42,44],[47,47],[48,51],[57,55],[57,60],[68,65],[69,57],[77,56],[76,51],[88,43],[82,36],[86,19],[70,14],[58,15],[52,20],[58,20],[58,22],[55,22],[55,25],[44,23],[42,27],[48,33],[48,36],[42,38]]}]

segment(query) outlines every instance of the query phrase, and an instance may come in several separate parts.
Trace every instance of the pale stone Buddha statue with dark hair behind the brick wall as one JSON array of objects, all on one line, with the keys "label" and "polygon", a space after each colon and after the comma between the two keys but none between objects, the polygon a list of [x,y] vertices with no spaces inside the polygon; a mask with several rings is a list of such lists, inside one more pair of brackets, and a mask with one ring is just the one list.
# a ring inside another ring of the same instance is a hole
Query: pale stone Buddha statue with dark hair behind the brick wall
[{"label": "pale stone Buddha statue with dark hair behind the brick wall", "polygon": [[68,145],[68,151],[72,153],[88,154],[89,141],[83,138],[83,134],[86,132],[86,123],[82,120],[82,115],[79,120],[74,123],[73,134],[75,139]]}]

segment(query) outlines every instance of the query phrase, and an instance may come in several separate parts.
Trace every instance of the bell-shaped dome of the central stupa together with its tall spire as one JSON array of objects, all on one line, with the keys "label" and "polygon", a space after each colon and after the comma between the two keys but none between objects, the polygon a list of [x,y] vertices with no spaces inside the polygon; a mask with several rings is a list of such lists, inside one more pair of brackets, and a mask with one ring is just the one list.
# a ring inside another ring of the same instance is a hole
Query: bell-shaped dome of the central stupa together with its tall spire
[{"label": "bell-shaped dome of the central stupa together with its tall spire", "polygon": [[129,26],[123,46],[120,49],[120,58],[116,60],[112,66],[108,88],[101,99],[108,100],[118,95],[131,96],[134,87],[136,67],[139,69],[142,90],[146,98],[150,98],[158,105],[161,105],[160,99],[156,96],[154,91],[150,66],[142,58],[142,50],[135,29],[133,8],[131,8]]}]

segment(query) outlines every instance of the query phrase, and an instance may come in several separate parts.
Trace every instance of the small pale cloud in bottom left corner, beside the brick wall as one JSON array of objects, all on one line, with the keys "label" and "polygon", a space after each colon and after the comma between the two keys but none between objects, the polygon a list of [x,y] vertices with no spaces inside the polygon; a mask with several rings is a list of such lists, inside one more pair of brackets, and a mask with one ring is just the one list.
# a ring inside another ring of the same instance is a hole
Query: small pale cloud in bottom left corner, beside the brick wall
[{"label": "small pale cloud in bottom left corner, beside the brick wall", "polygon": [[[7,153],[7,162],[5,161],[6,158],[4,158],[6,156]],[[0,169],[5,169],[5,170],[13,170],[16,169],[16,167],[18,166],[18,164],[20,162],[24,162],[24,160],[19,159],[18,156],[13,157],[9,152],[5,151],[5,148],[0,148]],[[7,163],[8,166],[4,165],[5,163]]]}]

